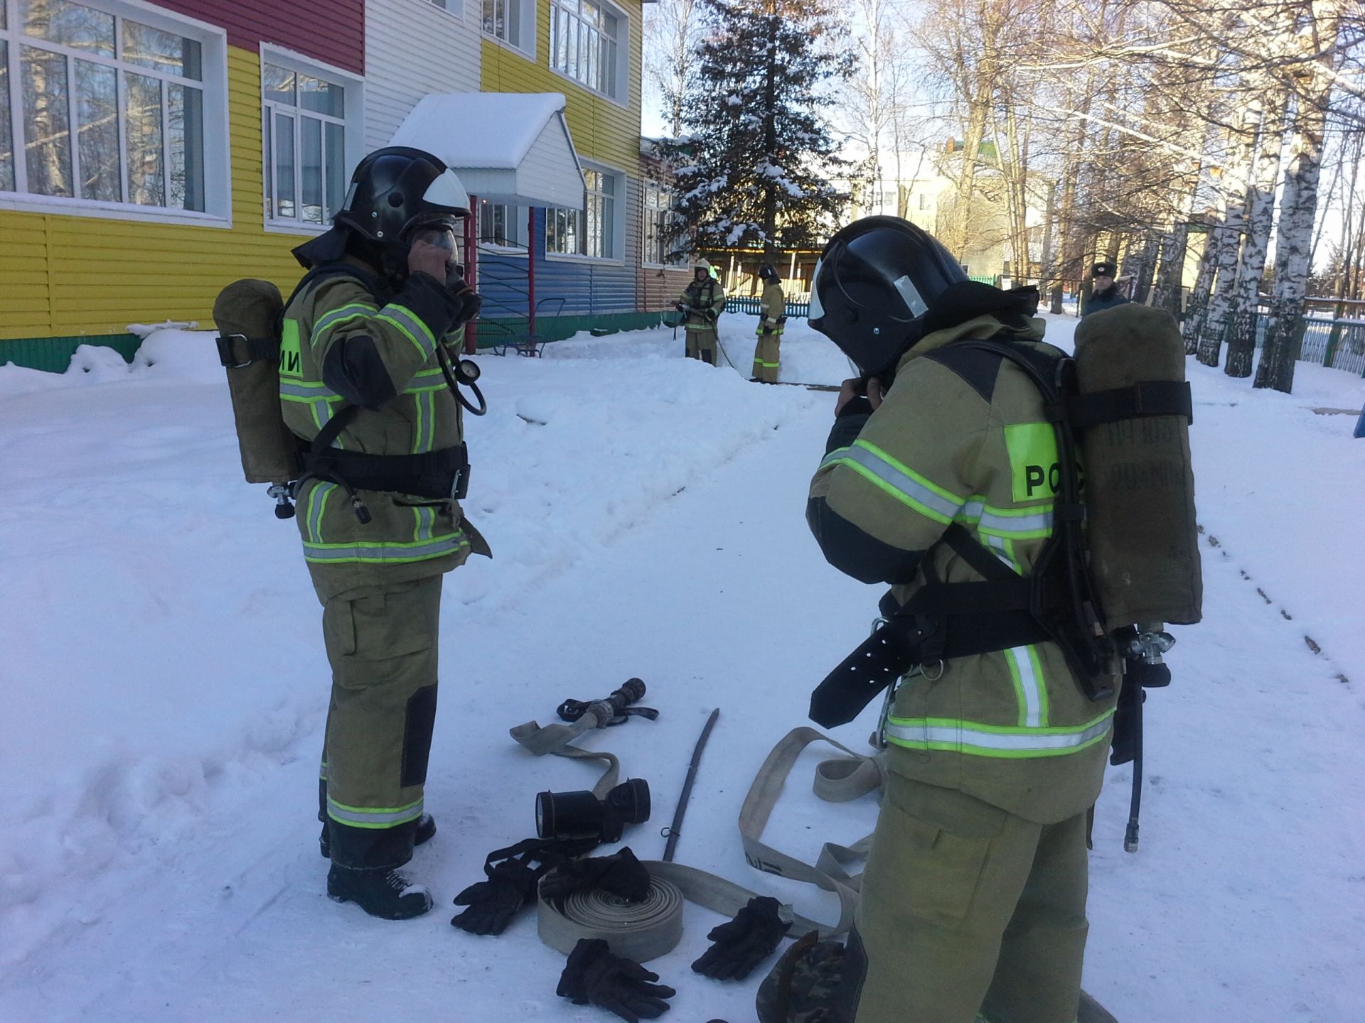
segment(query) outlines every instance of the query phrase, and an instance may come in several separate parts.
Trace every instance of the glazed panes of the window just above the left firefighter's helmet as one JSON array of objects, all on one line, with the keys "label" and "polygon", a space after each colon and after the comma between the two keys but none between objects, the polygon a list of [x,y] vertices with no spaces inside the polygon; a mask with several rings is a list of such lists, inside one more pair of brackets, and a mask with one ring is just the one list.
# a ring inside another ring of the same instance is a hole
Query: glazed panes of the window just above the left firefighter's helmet
[{"label": "glazed panes of the window just above the left firefighter's helmet", "polygon": [[341,209],[347,89],[321,74],[269,61],[262,68],[268,220],[330,224]]}]

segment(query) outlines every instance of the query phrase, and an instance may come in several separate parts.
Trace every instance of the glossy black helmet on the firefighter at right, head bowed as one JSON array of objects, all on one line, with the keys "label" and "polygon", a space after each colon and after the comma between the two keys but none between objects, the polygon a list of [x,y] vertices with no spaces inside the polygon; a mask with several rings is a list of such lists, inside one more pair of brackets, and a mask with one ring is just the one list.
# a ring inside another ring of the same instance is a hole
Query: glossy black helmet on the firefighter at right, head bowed
[{"label": "glossy black helmet on the firefighter at right, head bowed", "polygon": [[928,307],[966,280],[927,231],[900,217],[863,217],[824,246],[811,282],[809,323],[861,374],[876,376],[924,337]]}]

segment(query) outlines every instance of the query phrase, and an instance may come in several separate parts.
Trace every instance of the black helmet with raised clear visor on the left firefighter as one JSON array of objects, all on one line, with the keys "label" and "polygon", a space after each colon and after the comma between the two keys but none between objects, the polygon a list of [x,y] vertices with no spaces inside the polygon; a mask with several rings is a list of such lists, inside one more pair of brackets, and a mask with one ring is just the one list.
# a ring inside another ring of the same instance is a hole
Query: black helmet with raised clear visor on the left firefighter
[{"label": "black helmet with raised clear visor on the left firefighter", "polygon": [[336,222],[392,250],[407,247],[418,228],[455,231],[468,216],[470,195],[440,158],[410,146],[386,146],[355,168]]}]

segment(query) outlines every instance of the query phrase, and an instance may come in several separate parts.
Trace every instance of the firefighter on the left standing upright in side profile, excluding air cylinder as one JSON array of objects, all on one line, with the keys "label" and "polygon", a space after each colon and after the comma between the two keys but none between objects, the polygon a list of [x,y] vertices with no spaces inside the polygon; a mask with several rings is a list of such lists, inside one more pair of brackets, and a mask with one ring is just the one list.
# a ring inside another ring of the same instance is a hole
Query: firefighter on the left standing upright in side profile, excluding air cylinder
[{"label": "firefighter on the left standing upright in side profile, excluding air cylinder", "polygon": [[407,918],[430,893],[397,868],[434,832],[423,783],[435,720],[441,577],[489,554],[457,494],[468,461],[438,348],[479,299],[455,266],[468,196],[445,165],[390,147],[356,168],[345,209],[295,256],[280,401],[308,445],[303,555],[322,602],[332,701],[319,782],[328,893]]}]

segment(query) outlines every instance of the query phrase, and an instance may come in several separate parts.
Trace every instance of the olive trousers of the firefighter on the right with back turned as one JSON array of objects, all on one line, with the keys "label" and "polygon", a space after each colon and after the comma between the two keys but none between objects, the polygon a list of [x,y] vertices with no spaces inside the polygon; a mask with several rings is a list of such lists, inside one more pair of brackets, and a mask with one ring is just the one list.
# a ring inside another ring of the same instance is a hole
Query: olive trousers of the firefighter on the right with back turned
[{"label": "olive trousers of the firefighter on the right with back turned", "polygon": [[1036,824],[893,772],[845,959],[853,1022],[1073,1023],[1087,869],[1084,813]]}]

